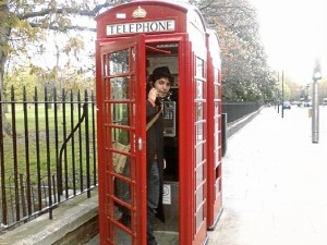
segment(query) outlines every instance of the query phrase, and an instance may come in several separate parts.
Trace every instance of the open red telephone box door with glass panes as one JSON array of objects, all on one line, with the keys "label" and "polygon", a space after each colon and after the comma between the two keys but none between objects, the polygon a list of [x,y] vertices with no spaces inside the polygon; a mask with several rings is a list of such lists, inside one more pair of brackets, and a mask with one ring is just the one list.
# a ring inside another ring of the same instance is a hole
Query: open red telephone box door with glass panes
[{"label": "open red telephone box door with glass panes", "polygon": [[146,244],[144,39],[97,42],[100,244]]}]

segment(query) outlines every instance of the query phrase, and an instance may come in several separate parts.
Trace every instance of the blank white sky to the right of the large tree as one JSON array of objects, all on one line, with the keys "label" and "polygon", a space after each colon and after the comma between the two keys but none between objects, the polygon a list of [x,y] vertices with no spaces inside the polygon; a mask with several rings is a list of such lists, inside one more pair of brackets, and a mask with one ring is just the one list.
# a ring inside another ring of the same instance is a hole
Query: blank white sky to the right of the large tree
[{"label": "blank white sky to the right of the large tree", "polygon": [[270,66],[294,82],[312,83],[315,60],[327,77],[327,0],[250,0]]}]

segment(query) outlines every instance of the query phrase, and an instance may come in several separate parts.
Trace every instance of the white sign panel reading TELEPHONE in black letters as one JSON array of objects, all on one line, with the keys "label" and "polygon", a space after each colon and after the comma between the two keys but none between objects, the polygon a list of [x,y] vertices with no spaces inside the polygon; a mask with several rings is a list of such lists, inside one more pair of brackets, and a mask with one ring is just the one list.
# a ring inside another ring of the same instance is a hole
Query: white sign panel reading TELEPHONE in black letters
[{"label": "white sign panel reading TELEPHONE in black letters", "polygon": [[136,22],[107,25],[107,35],[121,35],[133,33],[159,33],[173,32],[175,28],[174,20],[156,21],[156,22]]}]

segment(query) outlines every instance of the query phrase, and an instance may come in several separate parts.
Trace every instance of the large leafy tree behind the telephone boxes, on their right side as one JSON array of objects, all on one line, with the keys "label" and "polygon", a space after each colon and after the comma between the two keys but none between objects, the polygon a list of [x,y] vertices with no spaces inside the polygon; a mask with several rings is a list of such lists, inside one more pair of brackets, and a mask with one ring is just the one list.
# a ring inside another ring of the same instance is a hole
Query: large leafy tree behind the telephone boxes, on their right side
[{"label": "large leafy tree behind the telephone boxes, on their right side", "polygon": [[220,38],[223,99],[272,100],[276,77],[258,36],[255,9],[246,0],[203,0],[198,4]]}]

